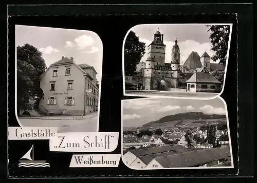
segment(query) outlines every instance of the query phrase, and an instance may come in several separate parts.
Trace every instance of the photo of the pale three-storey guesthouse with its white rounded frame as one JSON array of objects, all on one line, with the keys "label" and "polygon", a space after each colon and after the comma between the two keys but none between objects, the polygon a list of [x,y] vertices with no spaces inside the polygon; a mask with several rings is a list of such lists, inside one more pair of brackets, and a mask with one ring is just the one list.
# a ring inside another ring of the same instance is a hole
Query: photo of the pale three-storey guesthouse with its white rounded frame
[{"label": "photo of the pale three-storey guesthouse with its white rounded frame", "polygon": [[60,133],[98,132],[100,37],[87,30],[15,25],[15,48],[19,125]]}]

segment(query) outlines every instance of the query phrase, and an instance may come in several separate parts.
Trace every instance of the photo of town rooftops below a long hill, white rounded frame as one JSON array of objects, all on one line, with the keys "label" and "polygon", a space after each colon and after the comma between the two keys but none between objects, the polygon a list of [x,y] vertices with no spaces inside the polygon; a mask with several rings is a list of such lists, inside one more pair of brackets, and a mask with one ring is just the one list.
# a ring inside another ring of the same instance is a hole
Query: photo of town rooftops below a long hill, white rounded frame
[{"label": "photo of town rooftops below a long hill, white rounded frame", "polygon": [[131,169],[234,168],[223,98],[125,99],[122,161]]}]

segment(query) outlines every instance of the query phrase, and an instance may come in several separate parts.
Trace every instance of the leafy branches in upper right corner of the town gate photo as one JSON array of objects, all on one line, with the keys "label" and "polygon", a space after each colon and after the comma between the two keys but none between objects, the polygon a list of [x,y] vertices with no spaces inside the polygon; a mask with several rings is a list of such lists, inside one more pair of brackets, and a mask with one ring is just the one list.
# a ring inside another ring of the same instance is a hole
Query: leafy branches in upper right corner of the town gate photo
[{"label": "leafy branches in upper right corner of the town gate photo", "polygon": [[219,64],[225,66],[227,60],[230,26],[208,25],[207,27],[209,27],[208,32],[211,32],[209,37],[212,44],[211,51],[215,52],[211,59],[214,62],[219,60]]}]

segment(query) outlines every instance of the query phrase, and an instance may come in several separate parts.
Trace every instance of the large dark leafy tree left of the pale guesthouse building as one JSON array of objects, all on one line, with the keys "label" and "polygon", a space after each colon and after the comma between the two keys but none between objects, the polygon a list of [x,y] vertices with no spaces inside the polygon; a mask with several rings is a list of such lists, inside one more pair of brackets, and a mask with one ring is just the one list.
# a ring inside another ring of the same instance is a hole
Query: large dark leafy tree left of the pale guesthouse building
[{"label": "large dark leafy tree left of the pale guesthouse building", "polygon": [[27,99],[43,97],[39,77],[45,70],[45,60],[38,49],[29,44],[17,46],[17,110]]}]

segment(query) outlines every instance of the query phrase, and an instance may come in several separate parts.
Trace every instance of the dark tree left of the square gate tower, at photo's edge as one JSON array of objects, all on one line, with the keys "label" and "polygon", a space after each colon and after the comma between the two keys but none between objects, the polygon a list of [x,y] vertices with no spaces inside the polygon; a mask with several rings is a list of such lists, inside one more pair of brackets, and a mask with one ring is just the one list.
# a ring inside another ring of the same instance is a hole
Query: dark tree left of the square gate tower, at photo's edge
[{"label": "dark tree left of the square gate tower, at photo's edge", "polygon": [[136,67],[145,53],[145,43],[139,41],[136,33],[128,33],[124,45],[125,75],[136,74]]}]

